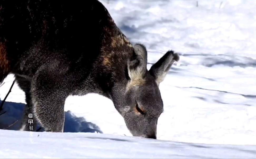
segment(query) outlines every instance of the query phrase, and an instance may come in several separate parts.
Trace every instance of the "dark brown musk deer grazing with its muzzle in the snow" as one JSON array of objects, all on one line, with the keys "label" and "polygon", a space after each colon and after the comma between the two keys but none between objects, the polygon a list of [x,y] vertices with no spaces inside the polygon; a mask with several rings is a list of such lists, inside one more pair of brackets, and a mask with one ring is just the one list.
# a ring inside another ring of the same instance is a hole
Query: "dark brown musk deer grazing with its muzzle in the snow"
[{"label": "dark brown musk deer grazing with its muzzle in the snow", "polygon": [[133,136],[156,139],[159,83],[178,60],[169,50],[147,70],[144,45],[131,44],[98,0],[0,1],[0,82],[12,73],[25,92],[20,130],[32,113],[34,127],[63,132],[66,98],[97,93]]}]

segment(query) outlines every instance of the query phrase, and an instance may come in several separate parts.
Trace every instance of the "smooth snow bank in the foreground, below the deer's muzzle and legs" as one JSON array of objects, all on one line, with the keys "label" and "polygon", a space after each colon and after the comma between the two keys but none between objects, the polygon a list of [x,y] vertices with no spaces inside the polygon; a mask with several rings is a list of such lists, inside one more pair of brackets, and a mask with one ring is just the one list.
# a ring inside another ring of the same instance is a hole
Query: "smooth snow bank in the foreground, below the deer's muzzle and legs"
[{"label": "smooth snow bank in the foreground, below the deer's muzzle and legs", "polygon": [[255,158],[252,145],[194,144],[97,133],[6,131],[0,131],[0,158]]}]

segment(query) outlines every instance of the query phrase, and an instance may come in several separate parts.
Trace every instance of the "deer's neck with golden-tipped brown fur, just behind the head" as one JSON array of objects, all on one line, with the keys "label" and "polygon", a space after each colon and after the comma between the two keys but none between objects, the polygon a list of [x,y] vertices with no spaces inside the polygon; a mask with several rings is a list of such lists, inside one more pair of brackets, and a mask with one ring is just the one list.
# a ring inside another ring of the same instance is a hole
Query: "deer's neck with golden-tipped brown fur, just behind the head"
[{"label": "deer's neck with golden-tipped brown fur, just behind the head", "polygon": [[104,31],[106,34],[96,67],[101,68],[98,74],[102,90],[115,104],[125,94],[127,62],[132,57],[133,46],[118,28],[113,30],[106,28]]}]

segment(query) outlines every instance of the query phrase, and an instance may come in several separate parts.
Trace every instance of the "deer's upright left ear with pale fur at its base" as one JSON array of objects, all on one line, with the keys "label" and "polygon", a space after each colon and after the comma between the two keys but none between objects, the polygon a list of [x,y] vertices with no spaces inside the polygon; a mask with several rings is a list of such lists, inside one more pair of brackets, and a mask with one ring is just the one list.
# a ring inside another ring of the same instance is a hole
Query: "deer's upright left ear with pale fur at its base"
[{"label": "deer's upright left ear with pale fur at its base", "polygon": [[147,71],[147,50],[142,44],[135,44],[133,57],[128,61],[128,75],[131,80],[143,79]]}]

